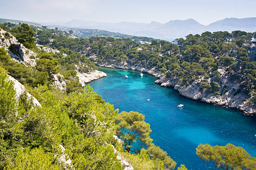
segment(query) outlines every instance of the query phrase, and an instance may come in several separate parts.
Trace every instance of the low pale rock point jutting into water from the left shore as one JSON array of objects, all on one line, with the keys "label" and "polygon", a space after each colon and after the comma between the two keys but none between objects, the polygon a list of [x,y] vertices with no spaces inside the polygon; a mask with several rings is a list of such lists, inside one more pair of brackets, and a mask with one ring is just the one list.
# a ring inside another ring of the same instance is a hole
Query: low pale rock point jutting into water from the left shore
[{"label": "low pale rock point jutting into water from the left shore", "polygon": [[82,73],[77,71],[77,77],[79,78],[79,82],[82,84],[82,87],[85,86],[85,83],[91,82],[93,80],[97,80],[101,77],[106,77],[107,74],[102,71],[93,70],[89,73]]}]

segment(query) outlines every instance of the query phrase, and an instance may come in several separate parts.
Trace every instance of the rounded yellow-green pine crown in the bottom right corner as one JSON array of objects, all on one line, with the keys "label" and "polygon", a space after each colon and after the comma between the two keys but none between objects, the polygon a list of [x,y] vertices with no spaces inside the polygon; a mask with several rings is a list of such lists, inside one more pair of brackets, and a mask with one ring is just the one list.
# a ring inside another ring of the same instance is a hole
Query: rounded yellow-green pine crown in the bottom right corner
[{"label": "rounded yellow-green pine crown in the bottom right corner", "polygon": [[[216,168],[223,170],[253,170],[256,159],[252,158],[243,148],[228,143],[226,146],[202,145],[197,147],[196,154],[204,161],[213,161]],[[248,169],[247,169],[248,168]],[[255,167],[254,167],[255,168]]]}]

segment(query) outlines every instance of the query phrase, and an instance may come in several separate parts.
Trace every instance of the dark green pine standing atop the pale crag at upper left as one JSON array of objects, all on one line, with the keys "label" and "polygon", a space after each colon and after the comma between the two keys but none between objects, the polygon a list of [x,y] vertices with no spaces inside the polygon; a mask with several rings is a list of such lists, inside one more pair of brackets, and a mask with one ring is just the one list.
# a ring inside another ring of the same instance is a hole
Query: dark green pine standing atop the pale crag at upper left
[{"label": "dark green pine standing atop the pale crag at upper left", "polygon": [[[16,37],[20,44],[22,43],[27,48],[32,48],[35,44],[34,31],[29,27],[28,24],[22,23],[20,27],[13,28],[13,35]],[[20,49],[20,45],[17,50],[17,55]]]}]

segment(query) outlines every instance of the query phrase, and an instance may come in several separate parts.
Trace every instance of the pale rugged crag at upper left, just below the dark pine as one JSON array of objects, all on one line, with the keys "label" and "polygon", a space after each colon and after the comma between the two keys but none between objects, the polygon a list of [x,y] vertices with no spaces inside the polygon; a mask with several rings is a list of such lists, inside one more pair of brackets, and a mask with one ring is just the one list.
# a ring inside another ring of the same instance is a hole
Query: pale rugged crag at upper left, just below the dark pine
[{"label": "pale rugged crag at upper left, just below the dark pine", "polygon": [[[8,34],[8,36],[5,36],[5,34]],[[37,54],[35,52],[27,49],[25,46],[23,46],[23,44],[21,44],[18,55],[15,55],[8,49],[11,44],[15,44],[18,48],[20,43],[13,35],[6,32],[5,30],[0,29],[0,47],[4,47],[5,50],[8,50],[8,55],[10,55],[11,58],[18,60],[20,63],[26,65],[27,67],[33,67],[36,65]]]}]

